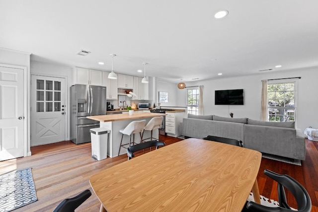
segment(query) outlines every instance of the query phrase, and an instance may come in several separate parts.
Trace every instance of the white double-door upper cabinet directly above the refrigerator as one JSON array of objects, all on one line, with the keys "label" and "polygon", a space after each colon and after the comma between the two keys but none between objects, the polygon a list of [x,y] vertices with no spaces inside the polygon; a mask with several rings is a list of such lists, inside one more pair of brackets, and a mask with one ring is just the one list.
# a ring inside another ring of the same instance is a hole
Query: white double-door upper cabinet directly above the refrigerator
[{"label": "white double-door upper cabinet directly above the refrigerator", "polygon": [[103,85],[103,71],[76,68],[76,84]]}]

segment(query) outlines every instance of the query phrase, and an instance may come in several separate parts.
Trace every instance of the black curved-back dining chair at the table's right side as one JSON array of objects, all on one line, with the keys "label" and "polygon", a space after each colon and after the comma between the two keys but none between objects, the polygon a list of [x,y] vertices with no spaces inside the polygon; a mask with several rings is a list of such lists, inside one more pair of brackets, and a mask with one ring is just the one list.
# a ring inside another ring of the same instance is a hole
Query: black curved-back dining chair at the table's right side
[{"label": "black curved-back dining chair at the table's right side", "polygon": [[299,212],[310,212],[312,201],[306,189],[294,178],[286,174],[277,174],[270,170],[265,170],[264,174],[278,182],[278,202],[279,207],[271,208],[247,201],[242,212],[293,212],[287,204],[284,188],[289,190],[295,197]]}]

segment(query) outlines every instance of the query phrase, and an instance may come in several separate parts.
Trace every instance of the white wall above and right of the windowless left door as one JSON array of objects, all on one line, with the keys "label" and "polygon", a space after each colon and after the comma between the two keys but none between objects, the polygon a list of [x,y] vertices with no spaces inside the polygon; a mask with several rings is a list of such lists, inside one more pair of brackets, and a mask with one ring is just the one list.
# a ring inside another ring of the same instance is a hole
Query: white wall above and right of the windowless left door
[{"label": "white wall above and right of the windowless left door", "polygon": [[[30,53],[27,52],[20,52],[15,50],[3,49],[0,48],[0,63],[6,65],[14,65],[14,66],[21,66],[26,67],[26,80],[27,82],[30,81]],[[24,76],[24,77],[25,77]],[[30,84],[28,83],[27,86],[27,114],[24,114],[24,117],[27,122],[27,155],[31,155],[30,149]]]}]

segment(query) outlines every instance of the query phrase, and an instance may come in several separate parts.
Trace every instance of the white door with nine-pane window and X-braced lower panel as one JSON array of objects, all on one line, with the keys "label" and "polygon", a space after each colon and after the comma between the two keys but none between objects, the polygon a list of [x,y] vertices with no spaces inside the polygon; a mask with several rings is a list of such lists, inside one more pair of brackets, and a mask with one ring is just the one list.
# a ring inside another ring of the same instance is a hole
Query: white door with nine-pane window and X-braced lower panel
[{"label": "white door with nine-pane window and X-braced lower panel", "polygon": [[65,78],[31,76],[31,146],[65,141]]}]

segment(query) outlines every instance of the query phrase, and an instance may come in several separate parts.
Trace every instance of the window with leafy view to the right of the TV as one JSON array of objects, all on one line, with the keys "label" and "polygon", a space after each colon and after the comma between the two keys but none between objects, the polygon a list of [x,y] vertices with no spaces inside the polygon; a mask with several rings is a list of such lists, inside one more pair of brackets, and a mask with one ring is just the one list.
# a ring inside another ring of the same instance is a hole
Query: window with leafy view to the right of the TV
[{"label": "window with leafy view to the right of the TV", "polygon": [[267,85],[270,122],[295,121],[295,82]]}]

